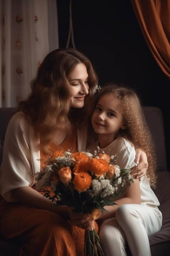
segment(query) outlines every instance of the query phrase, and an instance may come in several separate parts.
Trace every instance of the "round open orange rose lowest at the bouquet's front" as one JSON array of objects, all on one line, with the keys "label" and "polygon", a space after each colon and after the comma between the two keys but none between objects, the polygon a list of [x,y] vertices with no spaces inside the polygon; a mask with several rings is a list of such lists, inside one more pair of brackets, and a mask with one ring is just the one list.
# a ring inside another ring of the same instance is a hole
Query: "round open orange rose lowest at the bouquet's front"
[{"label": "round open orange rose lowest at the bouquet's front", "polygon": [[83,192],[89,188],[91,181],[91,175],[88,173],[77,173],[73,180],[74,188],[79,192]]}]

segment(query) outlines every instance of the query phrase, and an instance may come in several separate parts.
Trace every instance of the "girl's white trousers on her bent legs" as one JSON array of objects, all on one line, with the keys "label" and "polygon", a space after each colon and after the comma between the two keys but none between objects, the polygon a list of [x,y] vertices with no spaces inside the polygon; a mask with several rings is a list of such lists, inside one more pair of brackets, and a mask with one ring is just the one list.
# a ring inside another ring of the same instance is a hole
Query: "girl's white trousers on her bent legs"
[{"label": "girl's white trousers on her bent legs", "polygon": [[116,218],[105,220],[99,237],[105,256],[126,256],[126,242],[132,256],[151,256],[148,236],[161,229],[162,214],[141,204],[124,204]]}]

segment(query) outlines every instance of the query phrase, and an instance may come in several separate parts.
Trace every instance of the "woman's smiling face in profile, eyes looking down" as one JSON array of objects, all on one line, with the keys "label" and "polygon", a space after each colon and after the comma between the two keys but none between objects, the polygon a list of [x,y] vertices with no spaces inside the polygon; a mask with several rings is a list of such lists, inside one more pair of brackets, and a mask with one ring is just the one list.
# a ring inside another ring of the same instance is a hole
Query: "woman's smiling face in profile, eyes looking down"
[{"label": "woman's smiling face in profile, eyes looking down", "polygon": [[88,94],[88,73],[83,63],[78,64],[68,76],[70,88],[70,102],[73,108],[84,106],[84,97]]}]

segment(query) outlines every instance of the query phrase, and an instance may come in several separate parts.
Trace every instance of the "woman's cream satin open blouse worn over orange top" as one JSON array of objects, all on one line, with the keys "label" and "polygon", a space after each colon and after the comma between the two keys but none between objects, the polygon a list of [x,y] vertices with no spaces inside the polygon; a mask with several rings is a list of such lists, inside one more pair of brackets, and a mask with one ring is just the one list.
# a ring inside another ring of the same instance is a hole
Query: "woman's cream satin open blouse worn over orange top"
[{"label": "woman's cream satin open blouse worn over orange top", "polygon": [[[78,150],[86,150],[87,126],[77,128]],[[40,172],[40,138],[35,137],[24,112],[17,112],[7,127],[2,164],[0,166],[0,194],[8,202],[15,202],[11,190],[35,184]]]}]

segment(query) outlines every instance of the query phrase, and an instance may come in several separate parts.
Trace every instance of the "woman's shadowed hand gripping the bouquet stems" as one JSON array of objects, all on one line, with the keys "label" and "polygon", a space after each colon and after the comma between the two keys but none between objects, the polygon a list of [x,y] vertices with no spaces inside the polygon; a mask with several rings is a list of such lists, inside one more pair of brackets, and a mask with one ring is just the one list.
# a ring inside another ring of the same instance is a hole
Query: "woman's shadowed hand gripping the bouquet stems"
[{"label": "woman's shadowed hand gripping the bouquet stems", "polygon": [[84,213],[75,213],[73,210],[69,212],[70,221],[72,225],[81,227],[85,230],[92,230],[93,218]]}]

